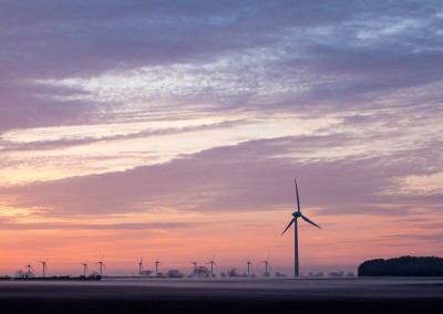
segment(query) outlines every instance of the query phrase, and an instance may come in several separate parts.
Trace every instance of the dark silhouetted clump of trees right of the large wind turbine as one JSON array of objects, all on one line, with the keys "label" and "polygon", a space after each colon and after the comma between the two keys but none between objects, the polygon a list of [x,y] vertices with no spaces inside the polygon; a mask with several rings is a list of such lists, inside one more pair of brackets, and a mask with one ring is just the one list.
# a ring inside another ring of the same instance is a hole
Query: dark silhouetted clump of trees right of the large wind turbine
[{"label": "dark silhouetted clump of trees right of the large wind turbine", "polygon": [[359,276],[443,276],[443,259],[401,257],[365,261],[359,265]]}]

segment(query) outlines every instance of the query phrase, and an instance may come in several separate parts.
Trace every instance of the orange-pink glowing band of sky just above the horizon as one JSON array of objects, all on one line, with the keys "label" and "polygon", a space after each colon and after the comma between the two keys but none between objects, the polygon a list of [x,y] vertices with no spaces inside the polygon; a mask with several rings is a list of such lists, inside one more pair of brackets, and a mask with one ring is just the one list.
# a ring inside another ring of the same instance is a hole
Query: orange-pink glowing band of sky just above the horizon
[{"label": "orange-pink glowing band of sky just above the horizon", "polygon": [[[307,212],[310,212],[307,209]],[[246,261],[253,261],[257,274],[262,273],[262,260],[268,257],[272,271],[291,274],[293,264],[293,231],[281,231],[290,220],[291,211],[254,213],[227,213],[200,216],[197,226],[181,229],[153,230],[2,230],[0,245],[3,258],[0,270],[13,275],[16,270],[32,263],[37,274],[39,260],[50,257],[49,273],[52,275],[81,273],[82,262],[91,271],[102,254],[107,266],[106,274],[132,275],[137,261],[144,258],[145,269],[154,270],[159,259],[162,270],[179,269],[190,272],[192,261],[206,263],[215,255],[217,273],[229,268],[245,271]],[[423,254],[427,248],[411,241],[406,247],[396,245],[401,236],[414,228],[391,228],[393,219],[365,219],[364,216],[315,216],[319,230],[299,220],[299,245],[301,271],[343,270],[356,271],[367,259],[390,258],[404,254]],[[167,218],[165,218],[167,219]],[[321,222],[320,222],[321,220]],[[257,224],[257,226],[254,226]],[[416,231],[416,230],[415,230]],[[350,237],[349,234],[353,234]],[[401,242],[401,241],[400,241]]]}]

